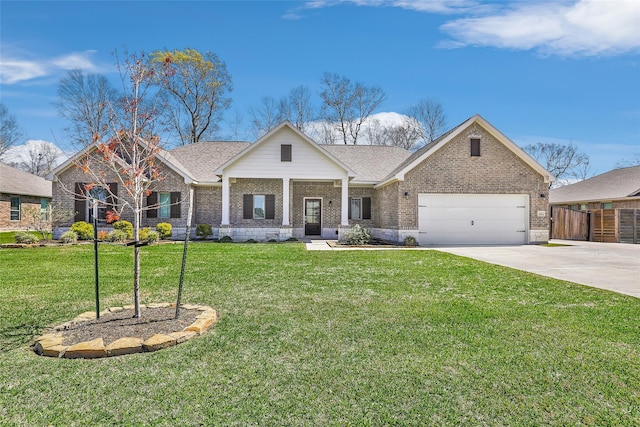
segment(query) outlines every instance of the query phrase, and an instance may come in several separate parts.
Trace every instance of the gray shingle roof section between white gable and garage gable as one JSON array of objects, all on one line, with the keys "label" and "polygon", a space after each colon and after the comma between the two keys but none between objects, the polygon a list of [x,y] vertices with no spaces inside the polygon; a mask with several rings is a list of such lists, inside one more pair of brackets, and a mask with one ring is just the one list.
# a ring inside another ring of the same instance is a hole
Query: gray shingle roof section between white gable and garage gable
[{"label": "gray shingle roof section between white gable and garage gable", "polygon": [[377,183],[411,153],[400,147],[384,145],[321,145],[326,151],[351,168],[354,183]]}]

